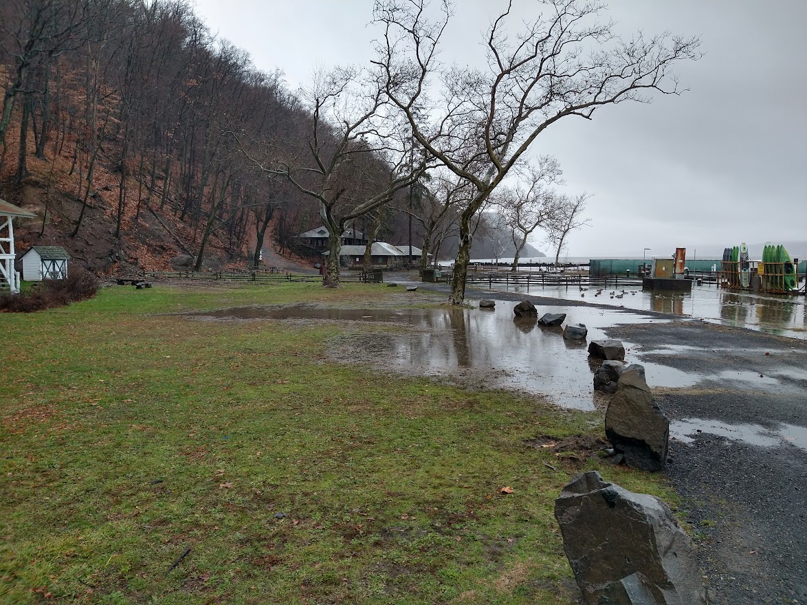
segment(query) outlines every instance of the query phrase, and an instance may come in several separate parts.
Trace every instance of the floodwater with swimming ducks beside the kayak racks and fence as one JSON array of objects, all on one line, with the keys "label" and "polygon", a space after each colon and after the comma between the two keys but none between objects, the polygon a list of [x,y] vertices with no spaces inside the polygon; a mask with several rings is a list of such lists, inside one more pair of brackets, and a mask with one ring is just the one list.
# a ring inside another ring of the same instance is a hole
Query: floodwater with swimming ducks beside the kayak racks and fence
[{"label": "floodwater with swimming ducks beside the kayak racks and fence", "polygon": [[[692,286],[691,293],[645,292],[640,287],[625,289],[622,298],[613,298],[607,288],[599,296],[596,289],[581,291],[578,286],[510,287],[494,284],[500,291],[523,292],[548,298],[584,300],[587,303],[624,307],[634,311],[658,311],[671,315],[706,319],[724,325],[751,328],[807,339],[807,306],[805,297],[784,294],[760,294],[721,290],[714,284]],[[617,294],[621,294],[620,289]],[[583,296],[581,296],[583,294]]]}]

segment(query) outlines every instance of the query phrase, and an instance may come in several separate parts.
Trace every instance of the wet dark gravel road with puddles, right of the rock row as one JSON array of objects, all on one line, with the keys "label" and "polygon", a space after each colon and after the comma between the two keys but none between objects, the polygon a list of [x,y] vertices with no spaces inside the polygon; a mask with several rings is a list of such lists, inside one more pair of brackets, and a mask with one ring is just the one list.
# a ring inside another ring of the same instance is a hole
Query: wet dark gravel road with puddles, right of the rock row
[{"label": "wet dark gravel road with puddles, right of the rock row", "polygon": [[[489,290],[469,289],[466,298],[589,306]],[[671,439],[667,475],[691,524],[711,602],[807,605],[807,342],[660,316],[672,321],[605,332],[633,343],[626,361],[701,377],[656,397],[673,425],[696,419],[701,427]],[[709,432],[715,423],[722,435]]]}]

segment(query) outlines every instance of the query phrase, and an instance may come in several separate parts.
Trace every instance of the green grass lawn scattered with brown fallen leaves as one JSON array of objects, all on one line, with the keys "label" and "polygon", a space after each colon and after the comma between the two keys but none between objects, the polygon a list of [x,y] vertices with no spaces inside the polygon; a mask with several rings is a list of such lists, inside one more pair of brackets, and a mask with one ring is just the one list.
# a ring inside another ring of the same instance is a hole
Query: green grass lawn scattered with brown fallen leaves
[{"label": "green grass lawn scattered with brown fallen leaves", "polygon": [[182,315],[390,290],[157,284],[0,314],[0,602],[574,603],[563,484],[601,467],[675,501],[525,444],[601,413],[336,365],[336,323]]}]

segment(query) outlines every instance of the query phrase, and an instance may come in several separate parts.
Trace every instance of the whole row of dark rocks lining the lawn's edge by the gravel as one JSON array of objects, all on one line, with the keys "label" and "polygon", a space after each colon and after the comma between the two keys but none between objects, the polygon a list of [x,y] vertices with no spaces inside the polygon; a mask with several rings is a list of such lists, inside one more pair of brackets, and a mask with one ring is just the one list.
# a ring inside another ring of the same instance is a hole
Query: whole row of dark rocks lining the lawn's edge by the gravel
[{"label": "whole row of dark rocks lining the lawn's edge by the gravel", "polygon": [[[495,307],[483,301],[480,307]],[[513,308],[516,318],[537,317],[528,300]],[[565,313],[546,313],[537,323],[559,327]],[[563,337],[585,340],[582,323],[567,325]],[[603,360],[594,388],[613,394],[605,411],[605,435],[615,460],[642,470],[662,470],[670,423],[650,387],[645,369],[625,364],[619,340],[592,340],[588,353]],[[563,548],[587,605],[705,605],[692,540],[662,500],[633,494],[591,471],[575,477],[555,501]]]}]

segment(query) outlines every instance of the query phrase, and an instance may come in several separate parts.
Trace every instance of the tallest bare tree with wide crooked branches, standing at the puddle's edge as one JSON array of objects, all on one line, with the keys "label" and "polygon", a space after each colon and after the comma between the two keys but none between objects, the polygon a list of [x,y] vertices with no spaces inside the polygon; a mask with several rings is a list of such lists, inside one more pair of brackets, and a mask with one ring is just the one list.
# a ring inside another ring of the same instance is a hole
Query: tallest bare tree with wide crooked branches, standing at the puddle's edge
[{"label": "tallest bare tree with wide crooked branches, standing at the puddle's edge", "polygon": [[[429,19],[428,5],[375,1],[374,19],[383,27],[376,63],[388,98],[420,146],[475,189],[460,215],[449,297],[461,304],[471,221],[533,141],[572,115],[591,119],[602,106],[647,102],[654,92],[679,94],[671,68],[697,59],[699,41],[669,34],[622,39],[612,23],[598,20],[603,6],[587,0],[547,0],[537,19],[508,35],[509,2],[487,32],[487,69],[446,68],[438,56],[454,6],[442,0],[440,18]],[[428,125],[416,119],[416,106],[432,118]]]}]

